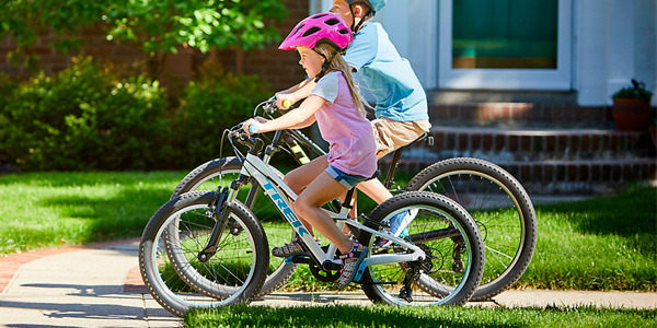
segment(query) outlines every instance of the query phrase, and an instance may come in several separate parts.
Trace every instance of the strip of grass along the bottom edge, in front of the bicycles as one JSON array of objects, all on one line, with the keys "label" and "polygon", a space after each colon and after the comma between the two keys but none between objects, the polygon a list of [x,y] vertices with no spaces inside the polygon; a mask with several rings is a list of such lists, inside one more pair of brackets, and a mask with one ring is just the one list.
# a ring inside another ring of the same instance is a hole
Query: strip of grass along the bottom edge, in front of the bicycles
[{"label": "strip of grass along the bottom edge, in front of the bicycles", "polygon": [[231,306],[189,313],[186,327],[657,327],[656,309]]}]

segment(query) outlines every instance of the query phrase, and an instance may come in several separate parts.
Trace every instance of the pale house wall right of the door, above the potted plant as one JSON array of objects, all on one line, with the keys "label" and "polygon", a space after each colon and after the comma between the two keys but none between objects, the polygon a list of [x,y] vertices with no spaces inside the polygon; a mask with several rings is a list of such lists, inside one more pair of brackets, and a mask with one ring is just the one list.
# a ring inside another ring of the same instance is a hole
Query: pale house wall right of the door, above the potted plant
[{"label": "pale house wall right of the door, above the potted plant", "polygon": [[[654,0],[576,1],[576,91],[580,105],[609,105],[631,79],[657,91]],[[653,97],[653,104],[656,104]]]}]

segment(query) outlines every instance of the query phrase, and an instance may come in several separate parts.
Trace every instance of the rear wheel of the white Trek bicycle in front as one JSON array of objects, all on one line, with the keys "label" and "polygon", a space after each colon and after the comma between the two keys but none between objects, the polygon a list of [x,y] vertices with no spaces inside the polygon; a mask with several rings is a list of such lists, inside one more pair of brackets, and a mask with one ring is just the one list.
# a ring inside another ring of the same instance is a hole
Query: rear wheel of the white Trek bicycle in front
[{"label": "rear wheel of the white Trek bicycle in front", "polygon": [[[408,225],[406,241],[423,249],[427,257],[416,262],[368,266],[361,279],[362,290],[371,301],[392,305],[464,304],[474,293],[484,266],[484,245],[474,221],[447,197],[422,191],[388,199],[369,219],[388,223],[408,210],[418,212]],[[371,222],[366,224],[378,226]],[[372,250],[376,238],[365,231],[359,239],[368,245],[370,256],[406,251],[396,245]]]}]

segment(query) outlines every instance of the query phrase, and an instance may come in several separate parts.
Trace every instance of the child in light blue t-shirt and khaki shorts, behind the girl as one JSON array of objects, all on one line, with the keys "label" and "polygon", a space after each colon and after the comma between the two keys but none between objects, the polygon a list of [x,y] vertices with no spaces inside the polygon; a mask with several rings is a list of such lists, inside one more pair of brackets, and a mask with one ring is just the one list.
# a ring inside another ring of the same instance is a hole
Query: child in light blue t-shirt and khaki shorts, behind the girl
[{"label": "child in light blue t-shirt and khaki shorts, behind the girl", "polygon": [[[371,121],[377,142],[377,157],[381,159],[404,147],[425,131],[429,131],[427,96],[408,61],[388,37],[379,23],[370,22],[374,13],[385,5],[385,0],[333,0],[332,13],[338,14],[355,33],[344,59],[354,72],[362,77],[365,85],[377,101],[376,119]],[[277,94],[277,104],[306,98],[314,82],[308,79]],[[293,187],[293,186],[290,186]],[[392,197],[379,179],[358,185],[377,203]],[[390,220],[391,232],[404,237],[406,226],[417,212],[404,212]],[[351,212],[355,215],[355,212]],[[380,239],[377,246],[388,241]]]}]

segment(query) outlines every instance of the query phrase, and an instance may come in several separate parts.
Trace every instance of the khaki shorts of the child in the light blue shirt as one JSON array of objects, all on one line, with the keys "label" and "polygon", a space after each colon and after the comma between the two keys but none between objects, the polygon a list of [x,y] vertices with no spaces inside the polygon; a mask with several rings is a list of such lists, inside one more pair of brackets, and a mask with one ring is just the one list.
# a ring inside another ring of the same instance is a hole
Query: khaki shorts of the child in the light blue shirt
[{"label": "khaki shorts of the child in the light blue shirt", "polygon": [[404,147],[427,132],[431,124],[427,119],[396,121],[385,117],[371,121],[377,141],[377,159]]}]

